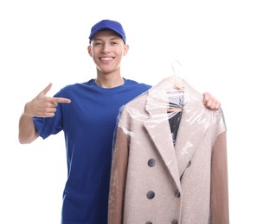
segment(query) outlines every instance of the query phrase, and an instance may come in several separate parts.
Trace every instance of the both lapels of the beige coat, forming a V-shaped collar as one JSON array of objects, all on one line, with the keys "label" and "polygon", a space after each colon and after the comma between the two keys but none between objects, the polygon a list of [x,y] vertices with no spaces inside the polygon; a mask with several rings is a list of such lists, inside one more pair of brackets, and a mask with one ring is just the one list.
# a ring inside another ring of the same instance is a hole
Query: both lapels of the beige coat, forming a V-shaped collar
[{"label": "both lapels of the beige coat, forming a V-shaped collar", "polygon": [[145,109],[148,111],[150,119],[144,123],[144,127],[150,134],[151,140],[153,140],[177,187],[180,188],[180,177],[206,133],[206,121],[203,120],[202,112],[204,113],[207,109],[202,104],[202,94],[182,80],[184,105],[176,146],[174,146],[167,114],[170,100],[167,90],[173,86],[171,81],[170,78],[165,78],[148,91]]}]

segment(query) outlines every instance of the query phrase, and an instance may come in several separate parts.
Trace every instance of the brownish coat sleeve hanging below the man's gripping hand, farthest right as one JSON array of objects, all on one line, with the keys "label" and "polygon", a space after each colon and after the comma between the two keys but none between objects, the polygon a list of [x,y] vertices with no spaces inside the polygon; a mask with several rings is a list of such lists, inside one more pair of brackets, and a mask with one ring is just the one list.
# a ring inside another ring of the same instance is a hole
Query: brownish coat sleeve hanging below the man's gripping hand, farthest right
[{"label": "brownish coat sleeve hanging below the man's gripping hand, farthest right", "polygon": [[211,224],[228,224],[227,133],[221,133],[214,144],[211,167]]}]

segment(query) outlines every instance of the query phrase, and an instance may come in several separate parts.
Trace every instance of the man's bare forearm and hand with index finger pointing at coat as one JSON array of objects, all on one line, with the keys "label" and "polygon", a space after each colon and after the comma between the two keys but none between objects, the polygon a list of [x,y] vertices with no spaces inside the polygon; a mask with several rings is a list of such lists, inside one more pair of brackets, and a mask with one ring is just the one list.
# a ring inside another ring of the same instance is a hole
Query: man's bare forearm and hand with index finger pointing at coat
[{"label": "man's bare forearm and hand with index finger pointing at coat", "polygon": [[48,84],[32,101],[26,103],[19,120],[18,138],[21,144],[31,143],[39,136],[35,130],[33,116],[53,117],[58,103],[71,103],[67,98],[46,96],[51,87],[52,84]]}]

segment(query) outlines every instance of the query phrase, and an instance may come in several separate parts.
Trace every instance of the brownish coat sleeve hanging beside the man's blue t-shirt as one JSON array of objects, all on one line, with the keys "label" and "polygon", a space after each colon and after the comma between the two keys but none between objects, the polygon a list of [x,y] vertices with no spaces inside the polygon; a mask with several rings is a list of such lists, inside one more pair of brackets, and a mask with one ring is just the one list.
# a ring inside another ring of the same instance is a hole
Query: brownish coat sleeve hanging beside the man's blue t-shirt
[{"label": "brownish coat sleeve hanging beside the man's blue t-shirt", "polygon": [[122,224],[123,221],[128,140],[124,128],[118,127],[113,145],[108,224]]}]

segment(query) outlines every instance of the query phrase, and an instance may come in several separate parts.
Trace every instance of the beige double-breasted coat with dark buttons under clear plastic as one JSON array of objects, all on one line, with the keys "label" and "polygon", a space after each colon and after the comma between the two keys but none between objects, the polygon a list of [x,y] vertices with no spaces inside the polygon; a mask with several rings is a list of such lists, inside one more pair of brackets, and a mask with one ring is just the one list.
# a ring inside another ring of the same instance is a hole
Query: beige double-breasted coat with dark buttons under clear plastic
[{"label": "beige double-breasted coat with dark buttons under clear plastic", "polygon": [[228,224],[226,126],[182,80],[173,145],[166,113],[173,78],[127,103],[118,117],[109,224]]}]

